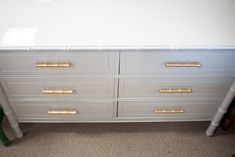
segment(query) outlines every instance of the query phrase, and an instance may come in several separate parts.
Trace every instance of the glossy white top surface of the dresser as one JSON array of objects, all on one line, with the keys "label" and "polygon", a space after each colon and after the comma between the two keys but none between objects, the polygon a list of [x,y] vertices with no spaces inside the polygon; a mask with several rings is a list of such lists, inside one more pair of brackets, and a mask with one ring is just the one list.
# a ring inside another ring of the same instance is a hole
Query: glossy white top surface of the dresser
[{"label": "glossy white top surface of the dresser", "polygon": [[235,48],[235,0],[0,0],[0,49]]}]

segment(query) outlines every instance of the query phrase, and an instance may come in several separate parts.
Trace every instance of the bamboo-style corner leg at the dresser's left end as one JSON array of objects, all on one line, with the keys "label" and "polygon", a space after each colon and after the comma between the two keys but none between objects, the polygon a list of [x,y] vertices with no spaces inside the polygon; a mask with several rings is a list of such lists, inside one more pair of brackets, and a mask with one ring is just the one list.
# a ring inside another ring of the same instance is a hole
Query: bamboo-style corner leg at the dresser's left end
[{"label": "bamboo-style corner leg at the dresser's left end", "polygon": [[5,115],[7,116],[10,125],[12,127],[12,129],[15,132],[15,135],[17,138],[22,138],[23,137],[23,132],[21,131],[20,127],[19,127],[19,122],[16,118],[16,115],[14,114],[14,112],[12,111],[10,104],[7,100],[6,94],[3,91],[2,87],[0,86],[0,104],[2,106],[2,109],[5,113]]}]

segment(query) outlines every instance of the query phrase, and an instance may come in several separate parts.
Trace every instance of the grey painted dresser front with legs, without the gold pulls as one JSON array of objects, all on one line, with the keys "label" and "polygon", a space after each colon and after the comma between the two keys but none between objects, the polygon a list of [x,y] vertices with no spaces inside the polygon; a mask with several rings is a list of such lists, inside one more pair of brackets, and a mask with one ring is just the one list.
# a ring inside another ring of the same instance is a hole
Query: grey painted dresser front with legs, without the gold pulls
[{"label": "grey painted dresser front with legs, without the gold pulls", "polygon": [[[234,50],[152,51],[1,51],[0,101],[21,137],[19,122],[159,122],[211,120],[234,81]],[[18,60],[17,60],[17,59]],[[38,69],[41,61],[73,61],[69,69]],[[198,61],[201,67],[166,68],[167,61]],[[80,65],[80,66],[79,66]],[[233,85],[235,86],[235,85]],[[77,91],[43,95],[44,88]],[[192,88],[192,93],[160,94],[160,88]],[[233,87],[234,88],[234,87]],[[234,95],[234,89],[226,102]],[[232,91],[232,92],[231,92]],[[51,116],[49,108],[68,107],[77,116]],[[157,115],[154,109],[185,109],[184,114]],[[219,109],[208,129],[213,132]],[[16,114],[16,115],[14,115]]]}]

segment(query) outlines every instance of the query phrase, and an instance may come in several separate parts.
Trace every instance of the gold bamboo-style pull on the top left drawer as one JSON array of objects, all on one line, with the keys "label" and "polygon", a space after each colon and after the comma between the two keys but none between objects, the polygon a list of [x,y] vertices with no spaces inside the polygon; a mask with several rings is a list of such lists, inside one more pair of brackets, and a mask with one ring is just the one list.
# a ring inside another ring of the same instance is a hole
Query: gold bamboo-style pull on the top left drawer
[{"label": "gold bamboo-style pull on the top left drawer", "polygon": [[72,63],[63,62],[63,63],[35,63],[34,65],[37,68],[69,68],[72,66]]}]

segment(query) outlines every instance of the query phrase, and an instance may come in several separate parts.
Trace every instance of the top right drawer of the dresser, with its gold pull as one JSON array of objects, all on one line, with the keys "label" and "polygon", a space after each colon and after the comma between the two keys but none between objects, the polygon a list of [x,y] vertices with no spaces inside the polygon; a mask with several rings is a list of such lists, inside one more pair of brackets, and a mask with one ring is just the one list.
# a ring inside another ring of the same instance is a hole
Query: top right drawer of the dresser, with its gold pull
[{"label": "top right drawer of the dresser, with its gold pull", "polygon": [[235,76],[235,51],[125,51],[122,75]]}]

